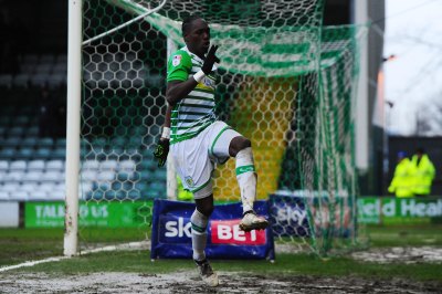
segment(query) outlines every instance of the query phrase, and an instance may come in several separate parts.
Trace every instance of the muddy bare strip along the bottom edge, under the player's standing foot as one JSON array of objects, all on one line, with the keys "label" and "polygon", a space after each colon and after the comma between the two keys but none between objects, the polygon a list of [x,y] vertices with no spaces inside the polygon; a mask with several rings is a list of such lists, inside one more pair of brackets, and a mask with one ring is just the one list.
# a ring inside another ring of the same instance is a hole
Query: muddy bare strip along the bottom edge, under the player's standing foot
[{"label": "muddy bare strip along the bottom edge, under the player's standing foot", "polygon": [[440,293],[441,283],[359,277],[286,275],[270,277],[220,272],[220,286],[204,286],[194,272],[173,274],[96,273],[51,276],[2,274],[0,293]]}]

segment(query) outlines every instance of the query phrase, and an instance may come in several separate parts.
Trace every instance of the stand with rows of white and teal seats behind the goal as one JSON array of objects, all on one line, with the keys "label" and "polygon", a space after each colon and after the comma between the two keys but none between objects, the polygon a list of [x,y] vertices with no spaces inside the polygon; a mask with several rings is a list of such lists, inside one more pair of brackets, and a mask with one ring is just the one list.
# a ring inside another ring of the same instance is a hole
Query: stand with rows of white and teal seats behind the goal
[{"label": "stand with rows of white and teal seats behind the goal", "polygon": [[[52,98],[64,102],[66,86],[66,55],[27,54],[21,56],[19,72],[0,75],[0,200],[53,201],[65,197],[65,117],[54,120],[53,127],[63,128],[53,136],[44,136],[40,124],[40,93],[48,87]],[[155,77],[154,77],[155,80]],[[155,83],[155,81],[154,81]],[[138,130],[135,133],[140,133]],[[166,172],[158,170],[147,150],[139,158],[112,158],[124,154],[125,147],[139,147],[136,137],[118,136],[108,144],[95,137],[91,149],[103,150],[83,164],[81,195],[85,199],[140,199],[164,197]],[[109,155],[110,154],[110,155]],[[138,159],[138,160],[137,160]],[[118,179],[118,181],[114,181]]]}]

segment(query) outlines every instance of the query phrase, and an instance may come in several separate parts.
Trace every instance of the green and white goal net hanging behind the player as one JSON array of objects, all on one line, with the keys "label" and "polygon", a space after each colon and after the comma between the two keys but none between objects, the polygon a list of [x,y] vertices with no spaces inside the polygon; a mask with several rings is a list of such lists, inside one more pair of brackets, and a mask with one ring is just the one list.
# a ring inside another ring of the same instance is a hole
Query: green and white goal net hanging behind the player
[{"label": "green and white goal net hanging behind the player", "polygon": [[[274,202],[276,242],[324,255],[355,241],[361,34],[322,27],[323,2],[169,0],[147,14],[160,2],[84,0],[82,248],[149,239],[152,200],[167,197],[152,149],[168,50],[183,45],[190,13],[208,21],[220,45],[217,113],[252,140],[257,198]],[[217,202],[240,200],[233,161],[215,170]]]}]

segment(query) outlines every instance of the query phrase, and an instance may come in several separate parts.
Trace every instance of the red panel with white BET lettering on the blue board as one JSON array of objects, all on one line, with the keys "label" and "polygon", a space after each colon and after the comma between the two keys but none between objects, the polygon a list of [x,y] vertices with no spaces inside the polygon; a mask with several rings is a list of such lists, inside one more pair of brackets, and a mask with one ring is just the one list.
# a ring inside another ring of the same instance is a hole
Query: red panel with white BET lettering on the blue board
[{"label": "red panel with white BET lettering on the blue board", "polygon": [[240,230],[241,220],[212,220],[210,222],[213,244],[264,245],[265,230],[244,232]]}]

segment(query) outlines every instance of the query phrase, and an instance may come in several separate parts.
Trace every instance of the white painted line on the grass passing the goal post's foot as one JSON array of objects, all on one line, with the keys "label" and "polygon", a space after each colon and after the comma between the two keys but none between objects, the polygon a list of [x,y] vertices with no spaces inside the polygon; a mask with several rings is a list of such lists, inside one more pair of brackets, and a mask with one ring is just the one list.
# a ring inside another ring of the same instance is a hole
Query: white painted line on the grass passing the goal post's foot
[{"label": "white painted line on the grass passing the goal post's foot", "polygon": [[[109,246],[83,250],[77,255],[74,255],[74,256],[85,255],[85,254],[91,254],[91,253],[98,253],[98,252],[116,251],[116,250],[123,250],[123,249],[124,250],[137,250],[137,249],[149,248],[149,245],[150,245],[149,241],[130,242],[130,243],[119,244],[119,245],[109,245]],[[7,272],[7,271],[15,270],[15,269],[21,269],[21,267],[34,266],[34,265],[41,264],[41,263],[59,262],[59,261],[67,260],[67,259],[71,259],[71,256],[54,256],[54,258],[48,258],[48,259],[40,260],[40,261],[27,261],[27,262],[19,263],[15,265],[2,266],[2,267],[0,267],[0,272]]]}]

